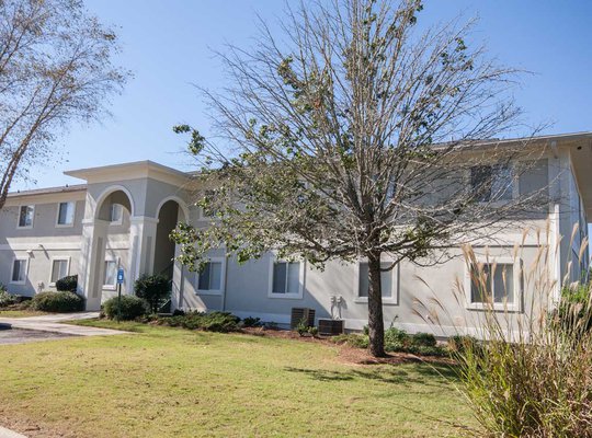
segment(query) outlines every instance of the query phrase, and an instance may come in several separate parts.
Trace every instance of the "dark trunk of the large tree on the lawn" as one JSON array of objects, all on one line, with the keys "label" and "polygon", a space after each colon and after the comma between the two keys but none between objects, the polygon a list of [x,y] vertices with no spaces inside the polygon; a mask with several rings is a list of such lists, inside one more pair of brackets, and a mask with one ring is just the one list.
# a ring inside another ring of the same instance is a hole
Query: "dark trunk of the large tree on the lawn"
[{"label": "dark trunk of the large tree on the lawn", "polygon": [[368,254],[368,335],[369,351],[374,357],[385,354],[385,322],[380,287],[380,253]]}]

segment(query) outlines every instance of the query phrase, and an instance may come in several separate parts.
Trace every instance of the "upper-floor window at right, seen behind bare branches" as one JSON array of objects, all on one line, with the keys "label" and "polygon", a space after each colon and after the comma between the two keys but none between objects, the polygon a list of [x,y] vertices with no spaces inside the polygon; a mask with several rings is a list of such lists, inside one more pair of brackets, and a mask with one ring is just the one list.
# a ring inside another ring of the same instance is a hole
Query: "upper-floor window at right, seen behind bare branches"
[{"label": "upper-floor window at right, seen behind bare branches", "polygon": [[508,164],[476,165],[470,169],[470,185],[480,203],[512,199],[512,168]]}]

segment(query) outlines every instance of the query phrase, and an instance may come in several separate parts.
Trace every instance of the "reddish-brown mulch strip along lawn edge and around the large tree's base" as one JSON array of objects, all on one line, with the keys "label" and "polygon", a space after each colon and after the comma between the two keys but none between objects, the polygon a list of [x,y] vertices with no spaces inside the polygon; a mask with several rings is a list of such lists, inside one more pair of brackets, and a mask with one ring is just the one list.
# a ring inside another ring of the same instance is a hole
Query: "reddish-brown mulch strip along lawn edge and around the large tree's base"
[{"label": "reddish-brown mulch strip along lawn edge and around the large tree's base", "polygon": [[428,364],[441,364],[441,365],[454,365],[453,359],[446,357],[435,356],[415,356],[408,353],[390,353],[386,357],[374,357],[367,349],[355,348],[344,344],[337,344],[331,341],[330,336],[317,336],[310,335],[300,336],[298,333],[288,330],[273,330],[264,327],[247,327],[242,328],[242,333],[251,336],[265,336],[276,337],[282,339],[293,339],[298,342],[315,343],[321,345],[328,345],[339,348],[339,360],[348,365],[399,365],[399,364],[412,364],[412,362],[428,362]]}]

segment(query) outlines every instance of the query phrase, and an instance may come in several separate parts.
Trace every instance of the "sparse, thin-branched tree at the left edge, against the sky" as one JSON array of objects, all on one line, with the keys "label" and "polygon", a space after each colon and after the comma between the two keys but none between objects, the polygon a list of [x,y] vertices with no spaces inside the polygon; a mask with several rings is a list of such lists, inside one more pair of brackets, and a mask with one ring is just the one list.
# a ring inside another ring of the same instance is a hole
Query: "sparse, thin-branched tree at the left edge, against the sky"
[{"label": "sparse, thin-branched tree at the left edge, against the sky", "polygon": [[0,2],[0,208],[58,134],[103,114],[128,76],[112,65],[117,51],[80,0]]}]

